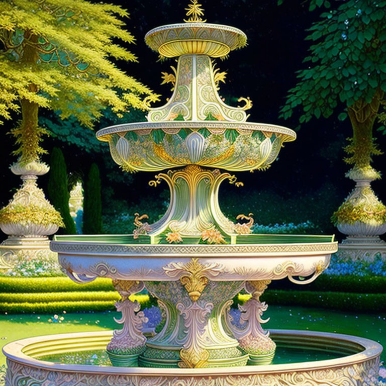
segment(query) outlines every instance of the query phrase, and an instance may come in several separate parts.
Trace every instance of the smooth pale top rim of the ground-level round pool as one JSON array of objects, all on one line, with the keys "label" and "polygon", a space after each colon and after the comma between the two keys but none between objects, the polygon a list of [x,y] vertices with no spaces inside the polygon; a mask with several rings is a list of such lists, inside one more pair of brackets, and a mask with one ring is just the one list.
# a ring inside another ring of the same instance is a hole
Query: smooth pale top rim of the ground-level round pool
[{"label": "smooth pale top rim of the ground-level round pool", "polygon": [[[86,333],[72,333],[72,334],[57,334],[37,336],[34,338],[27,338],[17,340],[7,344],[3,347],[3,352],[6,357],[12,361],[23,363],[29,366],[44,368],[47,370],[58,370],[66,372],[79,373],[95,373],[95,374],[122,374],[122,375],[146,375],[146,376],[222,376],[222,375],[248,375],[248,374],[269,374],[293,371],[310,371],[334,367],[349,366],[353,364],[362,363],[373,358],[378,357],[382,352],[382,346],[372,340],[356,337],[352,335],[326,333],[318,331],[302,331],[302,330],[270,330],[273,339],[280,339],[286,337],[296,338],[311,343],[321,340],[323,342],[331,342],[342,348],[347,346],[359,346],[363,350],[358,353],[343,356],[336,359],[327,359],[320,361],[310,361],[301,363],[286,363],[286,364],[271,364],[271,365],[256,365],[256,366],[241,366],[229,368],[143,368],[143,367],[113,367],[113,366],[94,366],[94,365],[75,365],[75,364],[58,364],[48,361],[42,361],[31,356],[28,356],[28,349],[36,350],[36,348],[50,348],[57,344],[67,344],[68,349],[76,342],[76,348],[81,348],[82,342],[89,345],[90,342],[95,346],[101,347],[110,341],[113,331],[98,331]],[[79,339],[80,338],[80,339]],[[51,342],[51,344],[47,344]],[[358,349],[359,349],[358,347]]]}]

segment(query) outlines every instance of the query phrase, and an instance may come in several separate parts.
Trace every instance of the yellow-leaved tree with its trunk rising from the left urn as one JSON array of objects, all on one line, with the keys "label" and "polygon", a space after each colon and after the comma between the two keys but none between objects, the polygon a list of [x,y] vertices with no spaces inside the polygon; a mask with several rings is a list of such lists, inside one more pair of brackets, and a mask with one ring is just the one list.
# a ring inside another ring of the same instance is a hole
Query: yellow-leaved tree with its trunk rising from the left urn
[{"label": "yellow-leaved tree with its trunk rising from the left urn", "polygon": [[[60,111],[92,127],[101,111],[146,109],[157,100],[145,85],[117,68],[111,59],[137,61],[113,42],[133,43],[124,29],[126,10],[85,0],[4,0],[0,2],[0,117],[22,112],[14,130],[21,160],[37,159],[38,108]],[[121,93],[117,91],[121,90]]]}]

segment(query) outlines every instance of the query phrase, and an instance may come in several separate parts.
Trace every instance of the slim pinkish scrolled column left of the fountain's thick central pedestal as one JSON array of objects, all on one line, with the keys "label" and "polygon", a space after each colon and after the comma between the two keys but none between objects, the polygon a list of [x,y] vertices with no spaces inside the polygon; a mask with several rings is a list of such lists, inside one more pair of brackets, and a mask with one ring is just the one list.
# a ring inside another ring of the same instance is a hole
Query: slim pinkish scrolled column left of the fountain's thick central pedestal
[{"label": "slim pinkish scrolled column left of the fountain's thick central pedestal", "polygon": [[138,366],[138,356],[145,350],[146,338],[142,333],[142,323],[147,318],[140,311],[140,304],[132,302],[129,297],[144,288],[142,281],[113,280],[115,289],[122,299],[115,304],[117,311],[122,313],[121,319],[114,320],[123,324],[121,330],[115,330],[113,339],[107,346],[111,362],[115,366]]}]

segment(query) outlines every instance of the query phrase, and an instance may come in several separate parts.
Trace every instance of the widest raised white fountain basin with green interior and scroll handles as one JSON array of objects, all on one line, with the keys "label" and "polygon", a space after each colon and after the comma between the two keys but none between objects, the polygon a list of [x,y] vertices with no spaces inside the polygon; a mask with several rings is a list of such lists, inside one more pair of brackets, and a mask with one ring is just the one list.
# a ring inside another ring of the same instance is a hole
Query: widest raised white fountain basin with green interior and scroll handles
[{"label": "widest raised white fountain basin with green interior and scroll handles", "polygon": [[[240,240],[239,240],[240,239]],[[50,248],[77,282],[95,277],[120,280],[178,280],[184,264],[199,258],[210,280],[278,280],[306,284],[328,266],[338,250],[334,236],[240,235],[236,244],[150,244],[149,236],[55,236]],[[210,269],[209,269],[210,268]],[[295,280],[310,276],[310,280]]]}]

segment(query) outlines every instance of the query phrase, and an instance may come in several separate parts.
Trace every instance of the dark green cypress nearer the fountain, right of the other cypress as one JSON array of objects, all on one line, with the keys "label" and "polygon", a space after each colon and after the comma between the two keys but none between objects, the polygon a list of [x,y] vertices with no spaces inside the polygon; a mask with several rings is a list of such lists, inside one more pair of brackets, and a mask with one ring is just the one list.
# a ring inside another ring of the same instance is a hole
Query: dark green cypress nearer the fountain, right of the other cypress
[{"label": "dark green cypress nearer the fountain, right of the other cypress", "polygon": [[91,165],[84,187],[83,233],[103,233],[101,177],[99,173],[99,167],[96,165],[96,163]]}]

